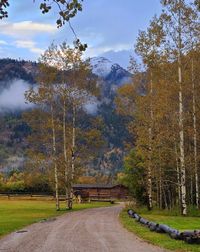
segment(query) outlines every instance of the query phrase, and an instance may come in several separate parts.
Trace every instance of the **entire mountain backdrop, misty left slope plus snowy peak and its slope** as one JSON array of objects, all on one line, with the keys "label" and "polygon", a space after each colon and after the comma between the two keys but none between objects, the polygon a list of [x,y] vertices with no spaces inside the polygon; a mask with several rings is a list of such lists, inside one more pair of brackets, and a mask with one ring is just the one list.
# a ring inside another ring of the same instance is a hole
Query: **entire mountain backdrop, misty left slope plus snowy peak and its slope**
[{"label": "entire mountain backdrop, misty left slope plus snowy peak and its slope", "polygon": [[[103,135],[107,143],[91,170],[114,174],[122,168],[123,142],[128,137],[127,119],[116,113],[114,98],[117,88],[130,82],[132,76],[120,65],[103,57],[92,58],[91,65],[93,73],[99,77],[102,98],[97,115],[104,121]],[[23,123],[21,111],[28,108],[24,104],[24,91],[36,83],[37,73],[38,64],[35,62],[0,59],[1,170],[23,168],[26,137],[30,129]]]}]

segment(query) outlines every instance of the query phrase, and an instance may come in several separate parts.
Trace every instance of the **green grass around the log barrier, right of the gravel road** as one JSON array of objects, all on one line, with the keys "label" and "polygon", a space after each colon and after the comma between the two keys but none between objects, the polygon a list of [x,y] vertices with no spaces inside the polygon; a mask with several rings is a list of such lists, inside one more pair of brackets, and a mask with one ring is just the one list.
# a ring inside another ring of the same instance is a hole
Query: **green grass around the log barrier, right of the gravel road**
[{"label": "green grass around the log barrier, right of the gravel road", "polygon": [[[145,210],[139,211],[141,216],[155,221],[157,223],[167,224],[173,228],[176,228],[180,231],[183,230],[194,230],[200,229],[200,217],[182,217],[179,215],[173,215],[174,213],[170,212],[161,212],[154,211],[148,213]],[[174,250],[174,251],[194,251],[200,252],[200,245],[190,245],[186,244],[183,241],[173,240],[167,234],[159,234],[149,231],[145,226],[142,226],[140,223],[136,222],[135,219],[130,218],[126,210],[122,211],[120,214],[120,220],[124,227],[129,231],[134,232],[142,239],[160,247]]]}]

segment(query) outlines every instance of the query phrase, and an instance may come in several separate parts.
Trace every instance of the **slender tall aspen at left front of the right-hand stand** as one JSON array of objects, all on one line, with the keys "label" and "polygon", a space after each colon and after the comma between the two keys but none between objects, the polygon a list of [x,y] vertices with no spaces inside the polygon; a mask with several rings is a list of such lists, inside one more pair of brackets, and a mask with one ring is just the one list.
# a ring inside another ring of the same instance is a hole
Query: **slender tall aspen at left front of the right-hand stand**
[{"label": "slender tall aspen at left front of the right-hand stand", "polygon": [[142,57],[143,63],[148,69],[149,75],[149,89],[147,95],[149,96],[149,154],[148,154],[148,176],[147,176],[147,185],[148,185],[148,199],[149,199],[149,209],[152,209],[152,139],[153,139],[153,78],[154,78],[154,69],[158,61],[160,60],[159,47],[164,39],[164,33],[162,30],[162,22],[154,17],[151,21],[150,26],[147,32],[140,32],[136,44],[136,52]]}]

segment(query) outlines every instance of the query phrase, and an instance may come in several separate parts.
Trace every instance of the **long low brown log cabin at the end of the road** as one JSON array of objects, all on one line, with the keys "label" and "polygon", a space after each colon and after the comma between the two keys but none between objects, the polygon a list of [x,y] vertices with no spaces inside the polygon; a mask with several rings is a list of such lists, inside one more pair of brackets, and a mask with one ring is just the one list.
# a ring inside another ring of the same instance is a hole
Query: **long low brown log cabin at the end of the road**
[{"label": "long low brown log cabin at the end of the road", "polygon": [[73,192],[75,196],[90,199],[126,199],[128,197],[128,188],[121,184],[76,184],[73,185]]}]

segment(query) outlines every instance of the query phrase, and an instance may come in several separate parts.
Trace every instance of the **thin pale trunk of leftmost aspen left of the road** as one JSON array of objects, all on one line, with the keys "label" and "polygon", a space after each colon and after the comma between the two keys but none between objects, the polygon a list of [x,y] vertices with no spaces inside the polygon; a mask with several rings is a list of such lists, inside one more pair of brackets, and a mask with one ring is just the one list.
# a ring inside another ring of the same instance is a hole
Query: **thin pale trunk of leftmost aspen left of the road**
[{"label": "thin pale trunk of leftmost aspen left of the road", "polygon": [[52,126],[52,147],[53,147],[53,162],[54,162],[54,177],[55,177],[55,193],[56,193],[56,210],[60,210],[59,193],[58,193],[58,167],[56,162],[56,134],[53,105],[51,104],[51,126]]}]

